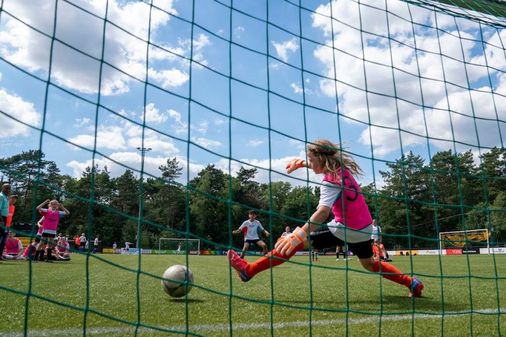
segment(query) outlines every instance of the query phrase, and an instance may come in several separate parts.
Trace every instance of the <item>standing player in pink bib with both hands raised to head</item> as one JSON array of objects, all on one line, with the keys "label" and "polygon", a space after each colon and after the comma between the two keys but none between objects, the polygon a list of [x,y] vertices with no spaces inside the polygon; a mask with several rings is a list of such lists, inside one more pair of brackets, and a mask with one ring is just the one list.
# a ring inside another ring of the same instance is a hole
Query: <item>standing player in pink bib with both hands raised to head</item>
[{"label": "standing player in pink bib with both hands raised to head", "polygon": [[[48,205],[48,208],[42,208],[44,205]],[[62,209],[63,211],[58,211],[58,209]],[[60,204],[56,200],[46,200],[44,203],[37,206],[37,211],[44,215],[44,222],[42,223],[42,237],[46,238],[48,240],[48,258],[46,259],[46,262],[53,262],[51,261],[51,255],[52,255],[52,240],[56,236],[56,228],[58,227],[58,221],[60,218],[63,218],[70,214],[70,212],[63,207],[62,204]],[[35,252],[35,259],[37,259],[37,253],[38,253],[38,259],[42,260],[44,257],[44,240],[41,240],[37,245],[37,252]]]}]

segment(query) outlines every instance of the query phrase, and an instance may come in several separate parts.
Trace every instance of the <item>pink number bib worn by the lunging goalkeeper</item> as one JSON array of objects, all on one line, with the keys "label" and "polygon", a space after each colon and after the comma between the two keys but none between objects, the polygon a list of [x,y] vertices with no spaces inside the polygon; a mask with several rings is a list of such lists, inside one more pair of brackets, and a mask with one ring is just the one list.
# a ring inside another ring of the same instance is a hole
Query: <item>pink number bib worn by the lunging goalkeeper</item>
[{"label": "pink number bib worn by the lunging goalkeeper", "polygon": [[[344,187],[341,191],[340,198],[336,199],[332,205],[332,213],[334,213],[335,222],[341,222],[347,227],[353,229],[363,229],[372,223],[371,213],[365,203],[364,196],[360,194],[360,187],[348,170],[343,171],[343,177],[340,175],[341,168],[338,169],[338,176],[334,174],[325,174],[323,180]],[[343,198],[345,212],[343,210]]]}]

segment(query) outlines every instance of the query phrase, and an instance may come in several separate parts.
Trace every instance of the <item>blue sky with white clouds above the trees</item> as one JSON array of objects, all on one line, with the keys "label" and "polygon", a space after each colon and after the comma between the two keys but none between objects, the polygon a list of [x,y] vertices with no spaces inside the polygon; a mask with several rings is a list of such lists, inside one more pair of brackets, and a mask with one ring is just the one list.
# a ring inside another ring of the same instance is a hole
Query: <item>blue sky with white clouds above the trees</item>
[{"label": "blue sky with white clouds above the trees", "polygon": [[[58,1],[44,116],[55,2],[4,0],[0,110],[39,128],[45,120],[64,140],[44,133],[41,149],[75,177],[93,153],[69,142],[93,150],[95,133],[97,151],[119,164],[100,154],[95,162],[113,175],[140,168],[144,139],[153,149],[146,172],[158,175],[176,156],[182,182],[187,167],[190,178],[209,163],[225,171],[230,163],[234,174],[240,160],[263,168],[262,182],[295,183],[268,169],[284,172],[289,159],[304,158],[305,139],[345,141],[366,173],[361,182],[378,185],[384,161],[402,151],[428,158],[455,146],[478,156],[501,146],[503,30],[399,1],[334,1],[333,20],[324,1],[303,1],[301,10],[284,0],[194,4],[192,25],[192,2],[153,1],[149,26],[148,4],[109,1],[102,51],[105,2]],[[102,52],[105,109],[97,111]],[[37,130],[4,114],[0,123],[8,130],[2,156],[39,148]],[[305,179],[302,171],[293,176]]]}]

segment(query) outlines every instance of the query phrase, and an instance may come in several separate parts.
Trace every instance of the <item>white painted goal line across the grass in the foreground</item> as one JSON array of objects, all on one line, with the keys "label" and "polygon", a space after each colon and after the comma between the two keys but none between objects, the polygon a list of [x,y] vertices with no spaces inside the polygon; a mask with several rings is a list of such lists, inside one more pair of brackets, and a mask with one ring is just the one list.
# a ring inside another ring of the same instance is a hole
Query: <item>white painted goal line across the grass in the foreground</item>
[{"label": "white painted goal line across the grass in the foreground", "polygon": [[[500,308],[497,310],[496,308],[490,309],[479,309],[473,310],[473,314],[496,314],[500,313],[502,315],[506,315],[506,308]],[[353,315],[353,313],[351,313]],[[414,315],[383,315],[381,317],[382,322],[395,322],[402,320],[411,320],[414,319],[441,319],[443,316],[445,319],[451,319],[454,317],[459,317],[462,315],[469,315],[469,311],[447,311],[444,315],[442,314],[414,314]],[[364,317],[364,318],[349,318],[348,324],[362,324],[362,323],[372,323],[379,322],[379,315],[374,315],[372,317]],[[324,326],[324,325],[336,325],[336,324],[345,324],[346,319],[321,319],[321,320],[313,320],[311,325],[313,326]],[[281,322],[281,323],[273,323],[272,326],[274,329],[286,328],[286,327],[306,327],[309,326],[309,321],[293,321],[293,322]],[[161,326],[163,329],[173,330],[173,331],[186,331],[185,325],[174,325],[174,326]],[[262,330],[262,329],[270,329],[271,323],[233,323],[233,330]],[[188,326],[188,331],[199,333],[199,331],[228,331],[230,329],[229,324],[194,324]],[[94,335],[94,334],[125,334],[125,333],[133,333],[135,331],[135,326],[128,327],[93,327],[87,328],[86,334]],[[28,336],[58,336],[58,335],[82,335],[83,329],[41,329],[41,330],[28,330]],[[146,327],[139,327],[139,332],[160,332],[160,330],[150,329]],[[22,337],[24,336],[24,331],[0,331],[0,336],[2,337]]]}]

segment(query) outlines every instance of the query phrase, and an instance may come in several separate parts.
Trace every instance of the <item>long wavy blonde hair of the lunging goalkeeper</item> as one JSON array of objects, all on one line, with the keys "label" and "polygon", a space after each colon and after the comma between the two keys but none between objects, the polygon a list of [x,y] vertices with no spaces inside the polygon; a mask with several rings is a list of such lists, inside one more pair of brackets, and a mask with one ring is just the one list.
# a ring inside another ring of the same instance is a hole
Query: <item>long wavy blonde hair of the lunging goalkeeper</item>
[{"label": "long wavy blonde hair of the lunging goalkeeper", "polygon": [[307,145],[307,150],[315,157],[324,173],[331,173],[339,178],[339,168],[347,169],[352,175],[363,175],[360,166],[352,155],[344,152],[341,143],[333,143],[327,139],[316,139]]}]

